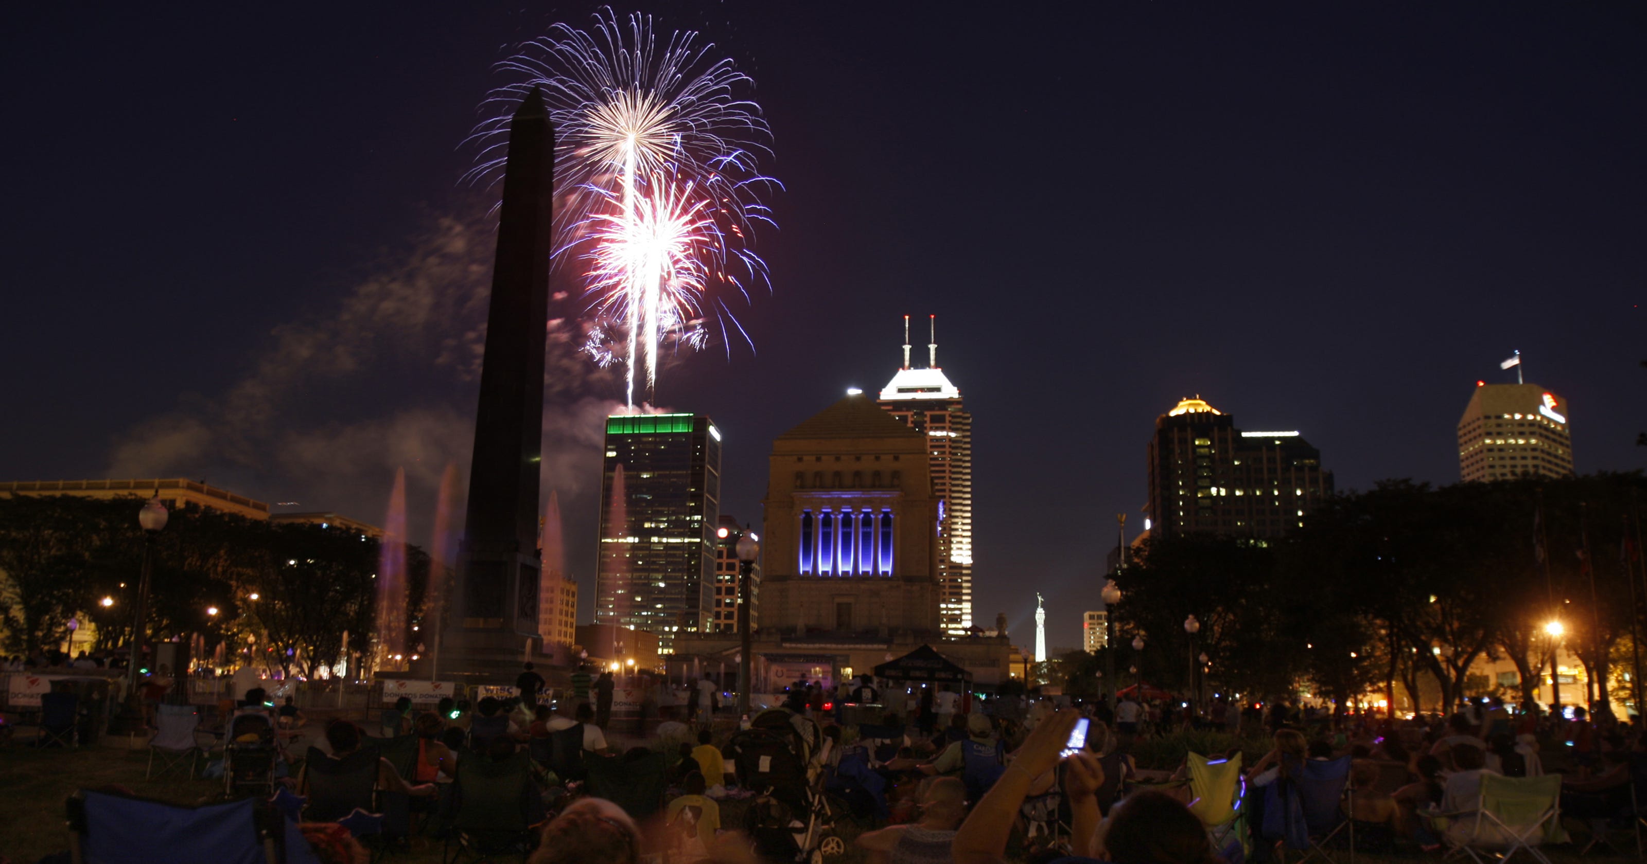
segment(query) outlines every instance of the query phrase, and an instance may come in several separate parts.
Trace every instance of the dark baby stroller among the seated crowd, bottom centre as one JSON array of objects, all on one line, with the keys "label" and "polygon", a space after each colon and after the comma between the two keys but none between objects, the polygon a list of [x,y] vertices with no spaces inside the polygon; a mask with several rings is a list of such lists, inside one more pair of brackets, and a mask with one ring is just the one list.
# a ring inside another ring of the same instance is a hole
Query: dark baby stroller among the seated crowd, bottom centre
[{"label": "dark baby stroller among the seated crowd, bottom centre", "polygon": [[847,852],[847,843],[833,833],[843,808],[830,805],[824,773],[809,772],[810,752],[789,722],[789,711],[763,711],[749,729],[733,736],[728,750],[738,785],[756,793],[746,828],[763,856],[819,864]]}]

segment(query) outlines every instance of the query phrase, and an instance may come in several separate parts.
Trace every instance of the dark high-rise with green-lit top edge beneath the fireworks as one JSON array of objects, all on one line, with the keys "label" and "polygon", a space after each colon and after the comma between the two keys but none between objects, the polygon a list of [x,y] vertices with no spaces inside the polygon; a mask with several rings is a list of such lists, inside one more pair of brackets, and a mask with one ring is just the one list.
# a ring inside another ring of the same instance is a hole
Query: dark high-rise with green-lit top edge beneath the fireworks
[{"label": "dark high-rise with green-lit top edge beneath the fireworks", "polygon": [[703,415],[606,418],[595,622],[705,632],[715,612],[720,430]]}]

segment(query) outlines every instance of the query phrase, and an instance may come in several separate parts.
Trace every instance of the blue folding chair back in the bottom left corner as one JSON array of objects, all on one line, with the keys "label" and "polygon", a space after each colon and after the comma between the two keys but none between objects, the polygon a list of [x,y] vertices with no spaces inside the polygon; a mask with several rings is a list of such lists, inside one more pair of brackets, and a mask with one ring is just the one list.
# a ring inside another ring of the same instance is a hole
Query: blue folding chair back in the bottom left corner
[{"label": "blue folding chair back in the bottom left corner", "polygon": [[183,806],[81,790],[69,798],[69,826],[81,838],[81,861],[264,864],[259,806],[254,798]]}]

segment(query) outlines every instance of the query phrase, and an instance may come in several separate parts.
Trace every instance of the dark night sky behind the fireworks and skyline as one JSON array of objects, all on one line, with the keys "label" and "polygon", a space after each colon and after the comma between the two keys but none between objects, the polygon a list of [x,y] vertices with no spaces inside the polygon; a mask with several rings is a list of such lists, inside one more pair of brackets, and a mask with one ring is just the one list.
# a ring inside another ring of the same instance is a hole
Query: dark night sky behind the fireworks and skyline
[{"label": "dark night sky behind the fireworks and skyline", "polygon": [[[0,26],[0,479],[380,522],[405,467],[420,540],[468,467],[491,265],[463,140],[492,64],[595,7],[36,7]],[[660,380],[726,434],[723,512],[759,518],[776,434],[886,383],[906,313],[975,416],[975,619],[1019,643],[1036,589],[1077,643],[1186,395],[1303,431],[1339,489],[1444,484],[1520,349],[1581,472],[1647,461],[1642,7],[899,7],[644,10],[754,76],[787,188],[754,351]],[[621,388],[558,369],[545,495],[586,620]]]}]

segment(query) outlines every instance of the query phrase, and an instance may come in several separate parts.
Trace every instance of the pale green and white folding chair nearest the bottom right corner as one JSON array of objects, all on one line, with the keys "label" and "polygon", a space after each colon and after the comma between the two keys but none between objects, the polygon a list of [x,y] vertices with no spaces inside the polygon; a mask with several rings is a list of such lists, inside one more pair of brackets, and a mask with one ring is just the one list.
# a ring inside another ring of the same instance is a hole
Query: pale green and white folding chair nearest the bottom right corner
[{"label": "pale green and white folding chair nearest the bottom right corner", "polygon": [[1448,856],[1467,854],[1476,864],[1489,857],[1509,861],[1527,849],[1543,864],[1550,864],[1538,846],[1566,843],[1561,829],[1561,775],[1500,777],[1481,775],[1481,810],[1474,813],[1443,813],[1453,821],[1441,839]]}]

